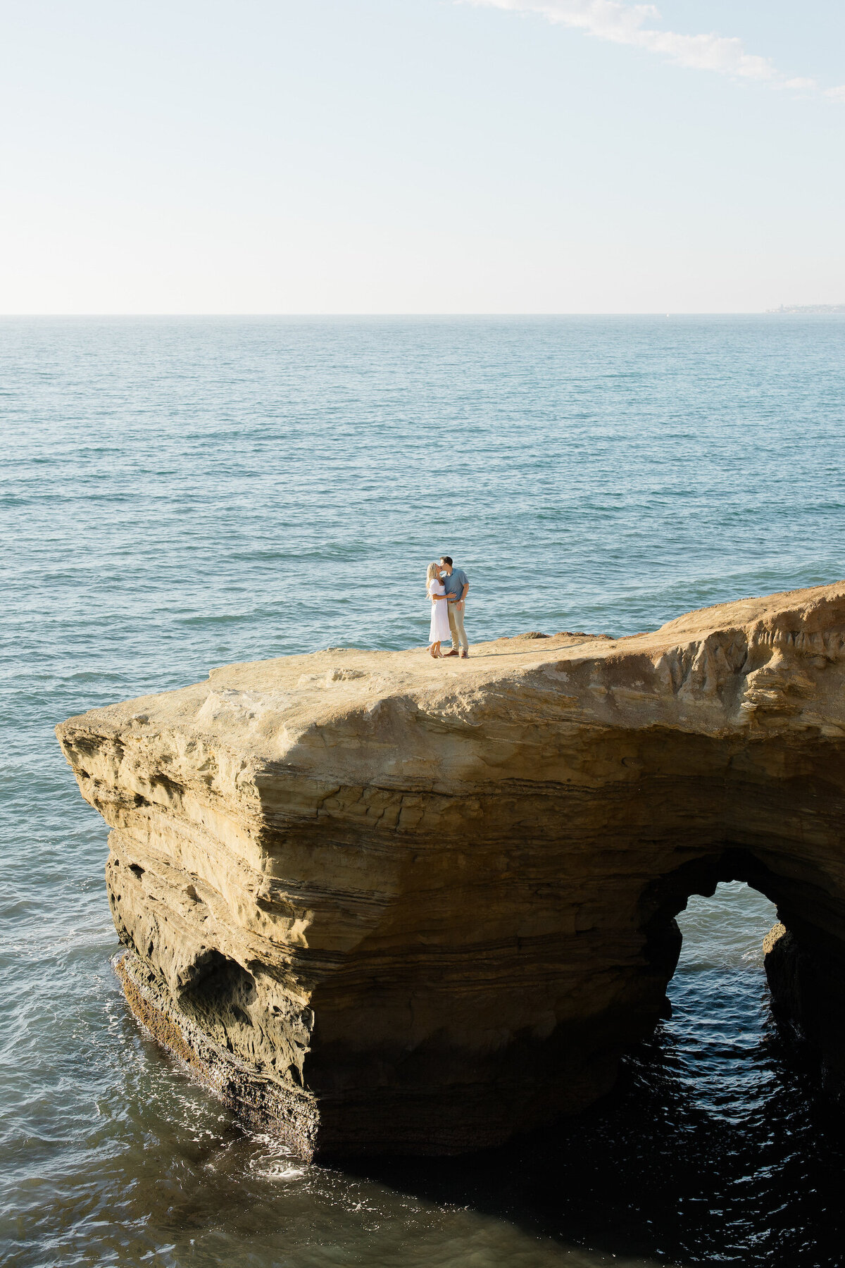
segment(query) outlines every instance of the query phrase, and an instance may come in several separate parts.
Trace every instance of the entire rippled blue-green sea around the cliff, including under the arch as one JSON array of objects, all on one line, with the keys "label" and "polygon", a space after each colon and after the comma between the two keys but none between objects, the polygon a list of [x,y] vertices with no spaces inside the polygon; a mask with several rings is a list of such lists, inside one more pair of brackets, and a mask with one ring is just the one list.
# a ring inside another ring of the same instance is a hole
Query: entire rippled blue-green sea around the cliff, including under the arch
[{"label": "entire rippled blue-green sea around the cliff, including under the arch", "polygon": [[302,1167],[139,1031],[52,734],[229,661],[652,629],[845,576],[841,318],[0,321],[0,1220],[20,1268],[840,1264],[845,1123],[784,1051],[770,905],[690,903],[674,1016],[579,1120]]}]

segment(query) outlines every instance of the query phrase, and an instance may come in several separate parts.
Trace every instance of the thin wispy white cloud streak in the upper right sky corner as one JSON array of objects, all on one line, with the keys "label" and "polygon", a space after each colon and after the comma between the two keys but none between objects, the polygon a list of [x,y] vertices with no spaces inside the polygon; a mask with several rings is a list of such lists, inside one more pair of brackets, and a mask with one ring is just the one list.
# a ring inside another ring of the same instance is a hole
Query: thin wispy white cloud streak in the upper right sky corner
[{"label": "thin wispy white cloud streak in the upper right sky corner", "polygon": [[[576,27],[614,44],[632,44],[659,53],[677,66],[717,71],[740,79],[758,80],[772,87],[818,91],[811,79],[787,79],[772,58],[746,53],[742,41],[732,36],[682,36],[655,25],[660,10],[652,4],[623,4],[622,0],[466,0],[473,5],[538,13],[549,22]],[[845,101],[845,85],[822,90],[831,100]]]}]

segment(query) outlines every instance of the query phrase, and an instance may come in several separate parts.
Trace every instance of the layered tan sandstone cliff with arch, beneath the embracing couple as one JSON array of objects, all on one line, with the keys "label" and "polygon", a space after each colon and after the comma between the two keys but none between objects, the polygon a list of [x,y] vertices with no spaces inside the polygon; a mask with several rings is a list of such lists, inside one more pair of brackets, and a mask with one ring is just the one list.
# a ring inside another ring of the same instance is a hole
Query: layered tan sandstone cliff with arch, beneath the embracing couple
[{"label": "layered tan sandstone cliff with arch, beneath the embracing couple", "polygon": [[442,1153],[606,1092],[720,880],[778,904],[775,994],[841,1068],[844,687],[845,583],[233,664],[58,735],[153,1033],[307,1156]]}]

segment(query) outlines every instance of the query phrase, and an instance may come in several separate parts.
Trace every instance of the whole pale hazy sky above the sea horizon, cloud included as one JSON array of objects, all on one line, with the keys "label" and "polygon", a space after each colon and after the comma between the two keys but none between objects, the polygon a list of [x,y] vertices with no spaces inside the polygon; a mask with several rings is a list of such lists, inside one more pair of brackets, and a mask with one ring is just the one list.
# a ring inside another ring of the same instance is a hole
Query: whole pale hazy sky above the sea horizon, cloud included
[{"label": "whole pale hazy sky above the sea horizon, cloud included", "polygon": [[0,312],[845,303],[841,0],[0,0]]}]

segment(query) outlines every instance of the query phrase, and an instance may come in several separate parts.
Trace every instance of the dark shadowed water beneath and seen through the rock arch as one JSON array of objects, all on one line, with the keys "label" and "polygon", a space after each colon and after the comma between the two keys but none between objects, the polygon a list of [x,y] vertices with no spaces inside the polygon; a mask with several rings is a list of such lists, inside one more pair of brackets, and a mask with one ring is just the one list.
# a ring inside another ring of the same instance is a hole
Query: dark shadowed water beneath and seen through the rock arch
[{"label": "dark shadowed water beneath and seen through the rock arch", "polygon": [[673,1017],[626,1058],[617,1090],[437,1178],[403,1164],[408,1188],[507,1211],[587,1263],[840,1264],[845,1116],[773,1021],[760,943],[774,919],[741,881],[693,896]]}]

